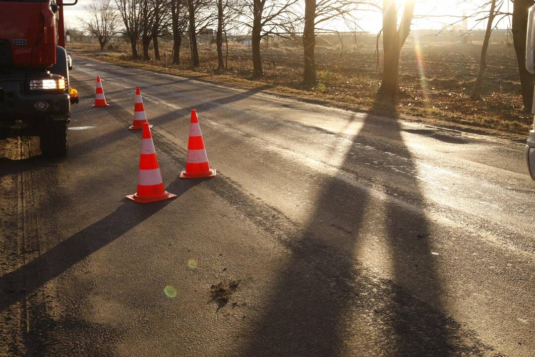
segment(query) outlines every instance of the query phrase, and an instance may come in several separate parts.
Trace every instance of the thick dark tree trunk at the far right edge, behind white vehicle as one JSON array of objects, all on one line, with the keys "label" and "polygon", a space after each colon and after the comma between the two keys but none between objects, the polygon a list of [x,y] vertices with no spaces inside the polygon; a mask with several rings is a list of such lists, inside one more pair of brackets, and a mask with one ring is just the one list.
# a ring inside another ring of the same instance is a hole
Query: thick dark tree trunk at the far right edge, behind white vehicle
[{"label": "thick dark tree trunk at the far right edge, behind white vehicle", "polygon": [[533,5],[533,0],[515,0],[513,4],[513,43],[515,44],[516,59],[520,84],[522,86],[522,100],[525,109],[531,109],[533,100],[533,83],[535,75],[526,70],[526,31],[528,29],[528,9]]}]

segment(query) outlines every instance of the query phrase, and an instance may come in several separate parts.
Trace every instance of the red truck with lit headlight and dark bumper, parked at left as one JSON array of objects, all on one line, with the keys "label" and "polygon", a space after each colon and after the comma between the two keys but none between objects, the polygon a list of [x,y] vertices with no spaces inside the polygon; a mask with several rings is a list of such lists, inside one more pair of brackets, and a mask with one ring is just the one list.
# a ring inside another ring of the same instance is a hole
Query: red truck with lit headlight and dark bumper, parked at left
[{"label": "red truck with lit headlight and dark bumper, parked at left", "polygon": [[40,136],[43,155],[67,153],[71,104],[63,0],[0,0],[0,129]]}]

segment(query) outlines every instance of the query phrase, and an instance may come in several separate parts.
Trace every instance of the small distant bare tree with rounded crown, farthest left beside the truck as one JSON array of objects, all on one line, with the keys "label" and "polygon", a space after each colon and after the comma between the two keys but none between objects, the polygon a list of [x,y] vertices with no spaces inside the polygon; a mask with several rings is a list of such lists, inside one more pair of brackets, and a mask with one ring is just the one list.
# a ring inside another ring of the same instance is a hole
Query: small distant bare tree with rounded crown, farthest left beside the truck
[{"label": "small distant bare tree with rounded crown, farthest left beside the truck", "polygon": [[82,28],[97,38],[101,50],[110,42],[111,37],[117,34],[118,15],[112,5],[112,0],[91,0],[86,5],[89,16],[78,18]]}]

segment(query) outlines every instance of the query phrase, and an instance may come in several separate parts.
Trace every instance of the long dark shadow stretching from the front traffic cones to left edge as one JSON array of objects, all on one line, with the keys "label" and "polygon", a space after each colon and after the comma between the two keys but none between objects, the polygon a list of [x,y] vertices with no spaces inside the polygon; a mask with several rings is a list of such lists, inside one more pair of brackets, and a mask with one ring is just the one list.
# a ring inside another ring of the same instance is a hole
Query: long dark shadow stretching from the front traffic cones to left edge
[{"label": "long dark shadow stretching from the front traffic cones to left edge", "polygon": [[[202,180],[181,180],[180,182],[175,180],[166,189],[181,195],[201,182]],[[0,296],[2,297],[0,311],[4,311],[13,303],[32,294],[49,280],[110,244],[172,202],[167,200],[137,204],[126,199],[124,201],[120,207],[100,221],[73,234],[19,269],[0,277]]]}]

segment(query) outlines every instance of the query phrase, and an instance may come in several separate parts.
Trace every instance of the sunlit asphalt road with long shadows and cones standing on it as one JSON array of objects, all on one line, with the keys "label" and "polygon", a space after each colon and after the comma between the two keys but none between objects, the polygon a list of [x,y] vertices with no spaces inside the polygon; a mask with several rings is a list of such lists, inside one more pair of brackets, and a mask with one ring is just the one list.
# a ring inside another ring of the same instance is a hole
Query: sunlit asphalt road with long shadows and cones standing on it
[{"label": "sunlit asphalt road with long shadows and cones standing on it", "polygon": [[[67,157],[0,141],[0,356],[535,355],[521,143],[74,64]],[[124,198],[136,86],[175,200]],[[178,179],[191,109],[213,179]]]}]

